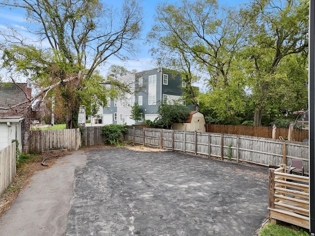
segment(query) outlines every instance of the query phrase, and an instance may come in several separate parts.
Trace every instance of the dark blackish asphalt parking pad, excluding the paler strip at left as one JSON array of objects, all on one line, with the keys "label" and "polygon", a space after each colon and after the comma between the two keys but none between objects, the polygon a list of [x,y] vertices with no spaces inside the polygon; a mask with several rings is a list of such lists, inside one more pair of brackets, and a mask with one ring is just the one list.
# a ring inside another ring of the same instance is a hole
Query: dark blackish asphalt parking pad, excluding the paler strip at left
[{"label": "dark blackish asphalt parking pad, excluding the paler strip at left", "polygon": [[67,236],[250,236],[268,214],[267,170],[113,148],[75,175]]}]

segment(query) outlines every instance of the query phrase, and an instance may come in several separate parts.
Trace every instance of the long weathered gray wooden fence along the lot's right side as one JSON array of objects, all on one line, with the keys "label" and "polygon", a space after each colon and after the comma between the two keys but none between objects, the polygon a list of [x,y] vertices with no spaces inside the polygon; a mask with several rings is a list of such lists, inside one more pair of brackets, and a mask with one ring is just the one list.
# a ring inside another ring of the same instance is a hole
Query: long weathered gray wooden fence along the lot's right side
[{"label": "long weathered gray wooden fence along the lot's right side", "polygon": [[292,158],[301,159],[304,170],[309,170],[309,146],[307,143],[223,133],[138,127],[128,127],[126,140],[154,148],[263,166],[280,164],[289,166]]}]

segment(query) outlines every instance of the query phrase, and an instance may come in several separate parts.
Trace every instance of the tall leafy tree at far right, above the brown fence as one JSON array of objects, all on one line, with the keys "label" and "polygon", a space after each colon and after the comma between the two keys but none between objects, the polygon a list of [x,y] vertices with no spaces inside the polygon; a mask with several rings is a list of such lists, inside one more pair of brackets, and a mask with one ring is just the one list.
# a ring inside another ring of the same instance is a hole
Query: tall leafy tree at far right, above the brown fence
[{"label": "tall leafy tree at far right, above the brown fence", "polygon": [[308,49],[308,4],[306,0],[254,0],[241,11],[244,18],[252,19],[248,25],[248,46],[242,53],[255,105],[254,125],[261,124],[263,114],[290,110],[285,101],[292,101],[300,92],[302,96],[295,101],[306,100],[303,84],[307,73],[303,70]]}]

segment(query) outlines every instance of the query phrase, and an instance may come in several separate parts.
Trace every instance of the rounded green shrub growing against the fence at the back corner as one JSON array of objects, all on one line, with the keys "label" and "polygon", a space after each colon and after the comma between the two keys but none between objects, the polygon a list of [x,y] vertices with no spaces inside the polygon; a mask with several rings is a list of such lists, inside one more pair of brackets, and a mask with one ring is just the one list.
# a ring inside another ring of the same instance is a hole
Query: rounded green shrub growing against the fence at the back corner
[{"label": "rounded green shrub growing against the fence at the back corner", "polygon": [[127,133],[128,128],[125,124],[110,124],[103,126],[102,128],[102,135],[105,137],[105,144],[122,144],[122,135]]}]

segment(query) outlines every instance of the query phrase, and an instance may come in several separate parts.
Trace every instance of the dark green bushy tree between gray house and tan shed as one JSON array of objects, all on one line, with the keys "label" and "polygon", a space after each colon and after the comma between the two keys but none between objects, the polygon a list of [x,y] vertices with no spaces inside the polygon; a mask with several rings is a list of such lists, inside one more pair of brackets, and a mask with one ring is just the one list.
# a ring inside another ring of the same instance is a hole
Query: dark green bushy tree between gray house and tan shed
[{"label": "dark green bushy tree between gray house and tan shed", "polygon": [[173,123],[182,123],[189,118],[190,110],[187,106],[174,102],[174,104],[158,105],[158,119],[155,125],[170,129]]}]

